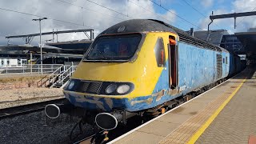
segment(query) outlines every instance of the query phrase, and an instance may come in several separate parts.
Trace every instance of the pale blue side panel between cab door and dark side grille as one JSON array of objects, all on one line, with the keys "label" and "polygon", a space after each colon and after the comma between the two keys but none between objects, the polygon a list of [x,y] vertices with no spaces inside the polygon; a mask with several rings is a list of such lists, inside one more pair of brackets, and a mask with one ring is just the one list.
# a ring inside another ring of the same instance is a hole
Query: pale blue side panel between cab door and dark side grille
[{"label": "pale blue side panel between cab door and dark side grille", "polygon": [[179,42],[178,77],[181,90],[189,92],[214,82],[216,52]]}]

